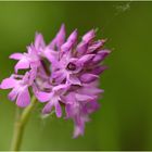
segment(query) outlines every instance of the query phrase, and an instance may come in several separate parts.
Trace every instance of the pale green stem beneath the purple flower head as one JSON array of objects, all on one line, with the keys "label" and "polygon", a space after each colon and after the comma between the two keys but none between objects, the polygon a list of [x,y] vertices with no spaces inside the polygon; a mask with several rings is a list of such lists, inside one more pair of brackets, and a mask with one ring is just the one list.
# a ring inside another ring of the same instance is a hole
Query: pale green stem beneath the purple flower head
[{"label": "pale green stem beneath the purple flower head", "polygon": [[20,111],[17,107],[16,111],[16,119],[14,124],[14,132],[13,132],[13,139],[11,143],[11,151],[20,151],[22,138],[24,134],[24,128],[26,123],[28,122],[28,118],[30,116],[30,112],[35,107],[36,104],[36,98],[31,98],[30,104],[23,111],[23,113],[20,115]]}]

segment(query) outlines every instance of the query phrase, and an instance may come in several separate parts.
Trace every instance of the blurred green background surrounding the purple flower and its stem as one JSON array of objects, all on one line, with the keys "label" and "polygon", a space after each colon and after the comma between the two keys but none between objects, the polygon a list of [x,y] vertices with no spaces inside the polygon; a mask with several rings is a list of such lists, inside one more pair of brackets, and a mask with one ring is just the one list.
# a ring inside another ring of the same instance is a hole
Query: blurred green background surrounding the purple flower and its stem
[{"label": "blurred green background surrounding the purple flower and its stem", "polygon": [[[13,72],[8,56],[25,51],[35,31],[49,42],[60,25],[79,36],[98,28],[113,52],[101,76],[102,109],[84,137],[72,139],[73,123],[33,112],[22,150],[152,150],[152,2],[0,2],[0,80]],[[0,91],[0,150],[9,150],[15,105]]]}]

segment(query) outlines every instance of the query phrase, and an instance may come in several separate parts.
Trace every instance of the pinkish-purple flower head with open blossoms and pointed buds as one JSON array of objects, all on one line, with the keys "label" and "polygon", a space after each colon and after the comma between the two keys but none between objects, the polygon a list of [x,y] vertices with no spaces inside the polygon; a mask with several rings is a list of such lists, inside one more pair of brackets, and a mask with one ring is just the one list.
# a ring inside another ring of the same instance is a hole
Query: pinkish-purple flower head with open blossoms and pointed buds
[{"label": "pinkish-purple flower head with open blossoms and pointed buds", "polygon": [[[25,53],[14,53],[16,60],[14,74],[1,83],[1,89],[12,89],[11,101],[17,106],[30,104],[30,93],[45,102],[42,114],[54,109],[58,117],[65,107],[65,118],[75,124],[74,137],[84,135],[89,114],[99,107],[98,99],[103,90],[99,89],[99,75],[106,68],[101,62],[110,53],[103,48],[105,40],[94,40],[94,29],[83,36],[78,43],[75,29],[65,39],[65,27],[61,26],[55,38],[46,45],[41,34],[36,34],[35,42]],[[25,72],[20,74],[21,69]]]}]

